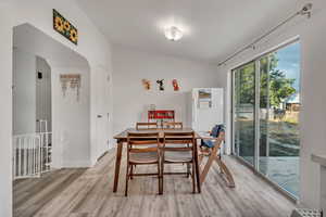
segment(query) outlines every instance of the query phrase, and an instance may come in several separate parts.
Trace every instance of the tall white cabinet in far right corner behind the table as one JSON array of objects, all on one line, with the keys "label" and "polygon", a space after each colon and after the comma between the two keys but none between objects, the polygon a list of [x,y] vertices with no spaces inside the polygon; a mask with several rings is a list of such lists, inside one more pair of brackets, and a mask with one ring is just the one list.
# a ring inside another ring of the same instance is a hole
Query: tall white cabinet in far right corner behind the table
[{"label": "tall white cabinet in far right corner behind the table", "polygon": [[195,88],[191,91],[191,127],[209,131],[223,120],[223,88]]}]

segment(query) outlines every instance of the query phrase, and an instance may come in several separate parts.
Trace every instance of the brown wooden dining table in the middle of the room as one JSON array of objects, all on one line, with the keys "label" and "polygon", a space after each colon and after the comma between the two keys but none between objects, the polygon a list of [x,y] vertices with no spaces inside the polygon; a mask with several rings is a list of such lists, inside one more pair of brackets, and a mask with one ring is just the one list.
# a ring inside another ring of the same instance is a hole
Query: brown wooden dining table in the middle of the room
[{"label": "brown wooden dining table in the middle of the room", "polygon": [[[115,171],[114,171],[114,186],[113,192],[117,191],[118,186],[118,176],[120,176],[120,167],[121,167],[121,159],[123,154],[123,146],[127,142],[127,135],[128,132],[159,132],[160,141],[163,142],[164,132],[192,132],[191,128],[183,128],[183,129],[136,129],[136,128],[128,128],[121,133],[116,135],[114,139],[116,139],[116,156],[115,156]],[[175,139],[183,139],[183,138],[175,138]],[[201,139],[199,133],[195,131],[195,167],[196,167],[196,183],[197,190],[201,192],[201,182],[200,182],[200,168],[199,168],[199,159],[198,159],[198,145],[197,140]]]}]

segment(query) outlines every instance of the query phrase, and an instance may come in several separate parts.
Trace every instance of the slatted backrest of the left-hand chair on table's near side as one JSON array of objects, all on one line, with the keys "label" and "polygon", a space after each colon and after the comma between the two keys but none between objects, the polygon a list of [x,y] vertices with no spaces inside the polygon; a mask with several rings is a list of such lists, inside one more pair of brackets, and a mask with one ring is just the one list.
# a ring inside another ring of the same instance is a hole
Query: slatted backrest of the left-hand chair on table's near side
[{"label": "slatted backrest of the left-hand chair on table's near side", "polygon": [[127,135],[128,156],[129,153],[159,152],[159,132],[128,132]]}]

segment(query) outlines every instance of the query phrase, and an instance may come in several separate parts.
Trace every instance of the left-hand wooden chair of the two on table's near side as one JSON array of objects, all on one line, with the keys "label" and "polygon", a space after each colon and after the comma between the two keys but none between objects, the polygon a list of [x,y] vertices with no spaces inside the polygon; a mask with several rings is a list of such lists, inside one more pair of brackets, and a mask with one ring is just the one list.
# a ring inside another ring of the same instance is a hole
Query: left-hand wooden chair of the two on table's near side
[{"label": "left-hand wooden chair of the two on table's near side", "polygon": [[[162,194],[162,175],[160,168],[160,139],[159,132],[139,133],[128,132],[127,135],[127,171],[125,196],[128,195],[128,182],[134,176],[158,176],[159,194]],[[136,165],[158,165],[158,173],[154,174],[136,174]]]}]

